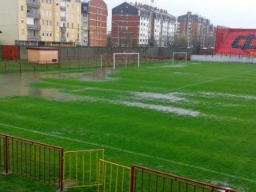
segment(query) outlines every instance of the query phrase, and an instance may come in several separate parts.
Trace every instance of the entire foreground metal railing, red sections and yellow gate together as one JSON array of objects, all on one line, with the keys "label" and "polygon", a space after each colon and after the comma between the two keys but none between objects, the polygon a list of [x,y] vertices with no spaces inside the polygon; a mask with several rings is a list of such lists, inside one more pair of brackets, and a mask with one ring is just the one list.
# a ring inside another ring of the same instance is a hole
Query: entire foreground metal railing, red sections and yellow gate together
[{"label": "entire foreground metal railing, red sections and yellow gate together", "polygon": [[0,134],[0,170],[18,174],[60,191],[94,187],[97,192],[236,192],[142,166],[104,160],[104,150],[67,151],[58,146]]}]

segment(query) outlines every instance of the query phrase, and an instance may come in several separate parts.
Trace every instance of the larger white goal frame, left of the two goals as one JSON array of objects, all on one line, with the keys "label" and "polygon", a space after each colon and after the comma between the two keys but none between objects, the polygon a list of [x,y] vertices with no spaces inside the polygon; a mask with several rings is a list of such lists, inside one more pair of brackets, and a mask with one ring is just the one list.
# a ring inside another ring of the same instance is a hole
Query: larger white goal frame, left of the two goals
[{"label": "larger white goal frame, left of the two goals", "polygon": [[117,66],[128,66],[128,65],[138,65],[140,67],[140,54],[139,53],[114,53],[113,55],[113,68],[116,69]]}]

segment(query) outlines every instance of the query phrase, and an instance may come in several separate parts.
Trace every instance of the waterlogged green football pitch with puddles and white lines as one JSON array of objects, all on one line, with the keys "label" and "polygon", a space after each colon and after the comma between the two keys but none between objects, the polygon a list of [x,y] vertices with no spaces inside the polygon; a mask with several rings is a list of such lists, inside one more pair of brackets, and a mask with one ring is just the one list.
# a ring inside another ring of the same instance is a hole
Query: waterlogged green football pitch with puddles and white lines
[{"label": "waterlogged green football pitch with puddles and white lines", "polygon": [[[65,150],[104,148],[111,162],[238,191],[256,191],[255,112],[256,66],[250,64],[0,74],[2,134]],[[55,189],[14,175],[0,176],[0,186]]]}]

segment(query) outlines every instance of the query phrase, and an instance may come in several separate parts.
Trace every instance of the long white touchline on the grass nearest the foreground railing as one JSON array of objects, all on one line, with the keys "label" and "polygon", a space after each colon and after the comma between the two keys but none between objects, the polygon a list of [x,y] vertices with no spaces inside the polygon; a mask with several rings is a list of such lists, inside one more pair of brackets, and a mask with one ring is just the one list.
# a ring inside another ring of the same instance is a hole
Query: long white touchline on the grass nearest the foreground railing
[{"label": "long white touchline on the grass nearest the foreground railing", "polygon": [[84,143],[86,145],[98,146],[98,147],[102,147],[102,148],[106,148],[106,149],[110,149],[110,150],[117,150],[117,151],[120,151],[120,152],[123,152],[123,153],[126,153],[126,154],[134,154],[134,155],[138,155],[138,156],[141,156],[141,157],[144,157],[144,158],[152,158],[152,159],[162,161],[162,162],[170,162],[170,163],[173,163],[173,164],[176,164],[176,165],[179,165],[179,166],[187,166],[187,167],[197,169],[197,170],[203,170],[203,171],[214,173],[214,174],[220,174],[220,175],[223,175],[223,176],[226,176],[226,177],[229,177],[229,178],[236,178],[236,179],[244,180],[246,182],[256,183],[255,180],[250,179],[250,178],[242,178],[242,177],[238,177],[238,176],[235,176],[235,175],[232,175],[232,174],[225,174],[225,173],[222,173],[222,172],[219,172],[219,171],[216,171],[216,170],[206,169],[202,166],[193,166],[193,165],[190,165],[190,164],[187,164],[187,163],[184,163],[184,162],[176,162],[176,161],[166,159],[166,158],[157,158],[157,157],[155,157],[153,155],[150,155],[150,154],[141,154],[141,153],[137,153],[137,152],[134,152],[134,151],[131,151],[131,150],[122,150],[120,148],[113,147],[113,146],[105,146],[105,145],[94,143],[94,142],[85,142],[85,141],[82,141],[82,140],[73,139],[73,138],[66,138],[66,137],[62,137],[62,136],[58,136],[58,135],[54,135],[54,134],[46,134],[46,133],[43,133],[43,132],[40,132],[40,131],[28,130],[28,129],[25,129],[25,128],[22,128],[22,127],[11,126],[11,125],[8,125],[8,124],[3,124],[3,123],[0,123],[0,126],[10,127],[10,128],[16,129],[16,130],[25,130],[25,131],[30,132],[30,133],[42,134],[42,135],[46,135],[46,136],[52,137],[52,138],[60,138],[60,139],[67,140],[67,141],[70,141],[70,142],[80,142],[80,143]]}]

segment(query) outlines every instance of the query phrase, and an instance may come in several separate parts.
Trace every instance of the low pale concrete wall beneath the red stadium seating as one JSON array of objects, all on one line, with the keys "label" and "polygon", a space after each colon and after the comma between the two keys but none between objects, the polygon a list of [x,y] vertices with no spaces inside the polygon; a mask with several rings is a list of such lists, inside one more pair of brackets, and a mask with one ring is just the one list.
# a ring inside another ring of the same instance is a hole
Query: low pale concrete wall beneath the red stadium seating
[{"label": "low pale concrete wall beneath the red stadium seating", "polygon": [[239,56],[223,56],[223,55],[191,55],[191,61],[194,62],[240,62],[255,63],[256,58],[239,57]]}]

